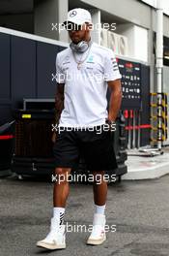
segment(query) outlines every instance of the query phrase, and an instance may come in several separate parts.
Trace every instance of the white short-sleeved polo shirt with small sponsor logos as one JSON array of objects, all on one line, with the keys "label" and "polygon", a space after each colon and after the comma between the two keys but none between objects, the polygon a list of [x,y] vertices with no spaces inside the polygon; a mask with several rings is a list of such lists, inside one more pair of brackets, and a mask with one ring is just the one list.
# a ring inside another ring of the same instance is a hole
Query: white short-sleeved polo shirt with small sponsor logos
[{"label": "white short-sleeved polo shirt with small sponsor logos", "polygon": [[[83,54],[83,56],[81,55]],[[56,57],[57,82],[65,83],[64,110],[59,126],[93,127],[105,123],[107,112],[107,81],[122,76],[114,52],[93,43],[90,51],[75,53],[76,59],[86,60],[77,69],[70,48]]]}]

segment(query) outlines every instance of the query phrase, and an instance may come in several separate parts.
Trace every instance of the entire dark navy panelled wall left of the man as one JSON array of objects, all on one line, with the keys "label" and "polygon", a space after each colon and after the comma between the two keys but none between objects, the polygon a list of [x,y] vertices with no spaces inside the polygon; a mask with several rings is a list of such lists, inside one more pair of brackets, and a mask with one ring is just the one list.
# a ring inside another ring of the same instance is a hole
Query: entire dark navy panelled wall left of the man
[{"label": "entire dark navy panelled wall left of the man", "polygon": [[54,98],[56,54],[63,49],[0,33],[0,124],[22,109],[23,98]]}]

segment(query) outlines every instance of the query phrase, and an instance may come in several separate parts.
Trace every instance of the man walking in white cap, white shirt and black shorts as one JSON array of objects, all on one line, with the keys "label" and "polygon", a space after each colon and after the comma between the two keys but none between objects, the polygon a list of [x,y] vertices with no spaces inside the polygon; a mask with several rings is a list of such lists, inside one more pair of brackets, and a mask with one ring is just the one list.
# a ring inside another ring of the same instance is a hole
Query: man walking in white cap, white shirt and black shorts
[{"label": "man walking in white cap, white shirt and black shorts", "polygon": [[[64,181],[54,184],[53,217],[50,232],[37,246],[47,249],[66,248],[64,214],[69,196],[71,169],[83,154],[88,170],[101,182],[94,181],[95,213],[93,229],[87,244],[106,240],[105,214],[107,182],[104,171],[117,168],[110,129],[120,110],[121,75],[114,52],[91,40],[91,15],[84,9],[73,9],[64,22],[70,35],[70,48],[57,54],[56,109],[60,113],[58,135],[53,147],[55,175]],[[111,90],[107,112],[107,87]],[[100,131],[100,132],[98,132]]]}]

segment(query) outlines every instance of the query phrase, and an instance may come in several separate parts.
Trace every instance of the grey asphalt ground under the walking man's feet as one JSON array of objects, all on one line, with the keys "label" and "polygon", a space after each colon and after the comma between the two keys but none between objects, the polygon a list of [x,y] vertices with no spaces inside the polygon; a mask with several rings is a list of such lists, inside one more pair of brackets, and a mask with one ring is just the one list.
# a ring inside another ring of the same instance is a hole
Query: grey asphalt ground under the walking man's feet
[{"label": "grey asphalt ground under the walking man's feet", "polygon": [[169,255],[169,176],[122,181],[108,185],[106,233],[99,246],[86,245],[89,232],[77,225],[92,224],[91,184],[70,184],[65,223],[70,225],[67,248],[46,251],[36,247],[49,231],[53,183],[45,178],[0,178],[0,256],[24,255]]}]

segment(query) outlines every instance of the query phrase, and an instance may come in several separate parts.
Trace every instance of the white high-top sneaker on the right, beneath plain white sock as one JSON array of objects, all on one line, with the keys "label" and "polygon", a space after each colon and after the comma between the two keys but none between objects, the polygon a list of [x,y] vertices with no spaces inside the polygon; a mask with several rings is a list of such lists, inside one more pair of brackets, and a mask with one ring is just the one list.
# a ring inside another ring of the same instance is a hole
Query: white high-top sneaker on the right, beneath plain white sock
[{"label": "white high-top sneaker on the right, beneath plain white sock", "polygon": [[88,240],[86,241],[86,243],[92,244],[92,245],[99,245],[104,240],[106,240],[104,226],[105,226],[105,215],[95,213],[92,233],[88,238]]}]

